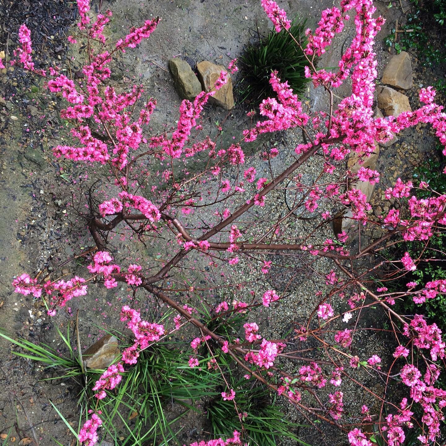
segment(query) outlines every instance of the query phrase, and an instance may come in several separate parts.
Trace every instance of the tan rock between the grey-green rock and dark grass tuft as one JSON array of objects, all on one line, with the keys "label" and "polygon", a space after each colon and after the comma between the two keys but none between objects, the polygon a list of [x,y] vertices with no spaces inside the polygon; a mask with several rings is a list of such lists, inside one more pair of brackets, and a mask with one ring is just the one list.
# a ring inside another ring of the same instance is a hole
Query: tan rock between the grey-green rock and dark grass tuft
[{"label": "tan rock between the grey-green rock and dark grass tuft", "polygon": [[[222,70],[226,71],[226,68],[223,65],[215,65],[215,63],[205,60],[197,64],[197,70],[201,86],[208,93],[209,91],[215,91],[215,81],[219,78],[220,72]],[[234,107],[234,95],[232,94],[231,74],[228,73],[227,76],[227,83],[215,92],[215,95],[209,99],[209,102],[226,110],[231,110]]]}]

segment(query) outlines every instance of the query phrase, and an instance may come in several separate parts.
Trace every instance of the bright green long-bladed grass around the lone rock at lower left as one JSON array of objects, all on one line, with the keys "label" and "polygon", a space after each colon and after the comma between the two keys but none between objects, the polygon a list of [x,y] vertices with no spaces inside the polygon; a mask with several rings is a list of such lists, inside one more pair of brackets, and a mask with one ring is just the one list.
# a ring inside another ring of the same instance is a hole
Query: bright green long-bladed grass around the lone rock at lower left
[{"label": "bright green long-bladed grass around the lone rock at lower left", "polygon": [[[14,355],[45,365],[44,372],[51,376],[43,380],[69,378],[77,384],[80,428],[89,401],[96,400],[91,383],[98,380],[103,371],[85,368],[80,350],[72,346],[69,330],[66,335],[57,330],[61,340],[59,351],[45,343],[12,339],[1,331],[0,336],[19,347],[20,351],[12,351]],[[199,366],[190,368],[188,359],[192,352],[180,348],[177,343],[162,343],[141,351],[138,362],[123,373],[117,391],[110,392],[106,400],[98,400],[104,438],[107,435],[115,442],[120,438],[122,446],[179,444],[178,434],[182,428],[178,427],[178,421],[190,410],[199,416],[199,401],[220,396],[222,378],[218,370],[207,367],[211,358],[199,358]],[[53,407],[71,428],[57,407]]]}]

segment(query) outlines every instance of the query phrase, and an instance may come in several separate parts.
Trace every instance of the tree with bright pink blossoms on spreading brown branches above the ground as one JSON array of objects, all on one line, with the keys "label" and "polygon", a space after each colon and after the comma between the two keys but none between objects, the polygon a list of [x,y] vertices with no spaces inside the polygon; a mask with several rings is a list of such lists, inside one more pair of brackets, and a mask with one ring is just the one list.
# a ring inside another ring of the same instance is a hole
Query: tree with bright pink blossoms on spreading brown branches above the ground
[{"label": "tree with bright pink blossoms on spreading brown branches above the ground", "polygon": [[[289,31],[291,21],[284,10],[271,0],[262,0],[262,5],[277,32]],[[270,84],[275,97],[262,101],[260,120],[253,121],[243,139],[231,145],[200,133],[200,117],[213,91],[202,92],[194,102],[184,100],[177,125],[152,134],[149,126],[156,100],[143,96],[142,85],[134,85],[128,92],[111,85],[112,58],[156,32],[159,18],[147,20],[127,36],[109,42],[103,29],[111,12],[92,19],[87,1],[78,0],[78,8],[79,38],[86,42],[87,52],[82,76],[68,78],[56,65],[47,70],[35,69],[26,25],[21,26],[21,46],[14,54],[15,63],[44,76],[50,91],[61,93],[68,102],[62,117],[70,123],[73,143],[56,146],[55,157],[97,165],[103,180],[109,182],[109,188],[103,188],[99,198],[90,192],[82,206],[74,206],[96,249],[84,277],[45,282],[21,273],[13,286],[17,293],[45,301],[52,317],[71,299],[87,296],[96,283],[107,289],[125,283],[135,298],[153,298],[153,310],[161,304],[169,309],[166,319],[146,320],[140,309],[122,306],[120,321],[123,330],[132,334],[133,343],[91,386],[94,393],[84,410],[88,419],[76,433],[79,442],[88,446],[98,442],[104,422],[100,408],[113,401],[123,391],[120,389],[125,391],[126,376],[138,370],[145,355],[150,351],[153,356],[160,355],[166,338],[193,330],[192,341],[184,346],[190,355],[187,362],[183,359],[183,367],[203,367],[200,361],[205,351],[209,359],[206,367],[218,372],[224,383],[221,405],[229,401],[235,419],[240,420],[240,430],[231,436],[203,438],[193,445],[242,445],[252,440],[248,437],[250,421],[246,421],[237,402],[240,389],[228,379],[230,373],[225,366],[243,370],[253,388],[262,384],[316,429],[322,423],[338,428],[353,446],[371,446],[378,437],[391,446],[402,445],[412,429],[419,432],[419,444],[439,444],[446,405],[446,391],[437,386],[446,348],[442,332],[421,312],[399,314],[394,305],[401,299],[424,303],[444,294],[446,281],[436,279],[423,285],[410,281],[401,290],[389,292],[385,286],[376,287],[370,277],[385,264],[376,261],[376,254],[387,243],[427,240],[445,226],[446,195],[438,194],[425,201],[413,193],[412,182],[398,179],[385,190],[387,197],[395,198],[398,208],[392,207],[381,218],[375,218],[366,195],[351,185],[357,181],[377,183],[380,174],[364,166],[352,173],[345,167],[345,158],[354,152],[365,160],[374,152],[375,141],[385,142],[392,138],[392,132],[400,133],[418,123],[429,124],[445,146],[446,115],[435,103],[435,91],[427,87],[419,94],[424,105],[416,110],[396,118],[373,117],[377,77],[373,45],[384,21],[374,16],[372,2],[342,0],[339,7],[322,12],[316,30],[306,30],[305,47],[292,39],[306,54],[306,77],[326,95],[326,111],[311,112],[273,72]],[[349,20],[354,21],[355,36],[338,67],[318,70],[315,59],[343,32]],[[227,83],[228,72],[237,70],[235,64],[232,61],[227,71],[221,72],[215,90]],[[336,104],[335,89],[347,79],[351,80],[351,95]],[[272,145],[264,151],[262,145],[256,155],[268,162],[269,173],[260,176],[252,166],[253,157],[245,156],[243,145],[262,135],[274,137],[277,132],[293,129],[303,134],[302,142],[294,148],[293,161],[276,169],[274,159],[279,149]],[[314,158],[320,160],[319,173],[314,181],[304,183],[302,172]],[[190,160],[198,165],[194,173],[189,172]],[[288,214],[277,215],[273,212],[274,194],[285,181],[296,198]],[[299,208],[314,215],[316,222],[303,235],[293,231],[294,211]],[[332,209],[349,210],[353,229],[350,234],[341,231],[319,240],[321,228],[334,219]],[[364,226],[381,227],[384,235],[351,248],[347,245],[349,238],[355,234],[360,237]],[[132,262],[114,248],[115,237],[140,246]],[[141,255],[149,244],[162,252],[161,257]],[[246,280],[234,279],[245,260],[258,264],[264,277],[268,277],[273,262],[267,259],[271,254],[284,259],[284,268],[291,268],[287,266],[291,260],[313,267],[317,259],[326,260],[323,269],[315,271],[323,284],[314,295],[306,321],[289,321],[292,328],[282,339],[263,335],[260,310],[266,313],[283,305],[289,297],[289,287],[285,285],[279,293],[266,280],[255,288]],[[405,252],[396,265],[404,274],[416,269],[419,261]],[[225,286],[239,293],[230,300],[216,292],[220,285],[212,281],[205,282],[206,286],[195,285],[189,278],[195,262],[202,262],[209,270],[227,270],[230,283]],[[202,317],[202,307],[211,320]],[[395,344],[389,357],[381,358],[373,346],[360,353],[353,346],[361,315],[372,310],[377,317],[371,330],[392,336]],[[237,314],[247,315],[238,331],[219,322],[211,323]],[[389,328],[384,328],[384,323]],[[344,328],[345,324],[348,328]],[[223,363],[220,357],[230,358],[232,365],[228,359]],[[379,380],[380,389],[367,385],[364,376]],[[149,385],[149,378],[141,377],[141,385]],[[347,411],[350,400],[358,395],[351,385],[356,392],[372,398],[373,406],[363,405],[355,413]],[[243,400],[240,392],[241,404]],[[212,410],[216,410],[215,406]],[[116,412],[118,416],[119,413]],[[161,417],[161,413],[157,416]],[[166,429],[169,430],[167,426]]]}]

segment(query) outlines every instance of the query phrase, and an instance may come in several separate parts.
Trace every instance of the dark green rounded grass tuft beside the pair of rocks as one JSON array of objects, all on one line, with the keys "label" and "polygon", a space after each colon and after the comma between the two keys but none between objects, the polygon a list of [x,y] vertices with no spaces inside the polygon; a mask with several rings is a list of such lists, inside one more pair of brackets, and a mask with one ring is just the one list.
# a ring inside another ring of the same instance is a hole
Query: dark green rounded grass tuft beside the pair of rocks
[{"label": "dark green rounded grass tuft beside the pair of rocks", "polygon": [[306,20],[294,19],[289,32],[285,29],[280,33],[271,30],[267,36],[259,34],[257,42],[246,46],[239,59],[243,76],[239,87],[240,102],[247,101],[256,106],[263,99],[274,97],[269,83],[273,71],[278,72],[282,82],[288,81],[295,94],[303,94],[309,81],[304,71],[308,61],[293,37],[305,48],[305,24]]}]

